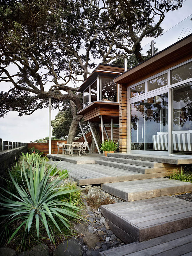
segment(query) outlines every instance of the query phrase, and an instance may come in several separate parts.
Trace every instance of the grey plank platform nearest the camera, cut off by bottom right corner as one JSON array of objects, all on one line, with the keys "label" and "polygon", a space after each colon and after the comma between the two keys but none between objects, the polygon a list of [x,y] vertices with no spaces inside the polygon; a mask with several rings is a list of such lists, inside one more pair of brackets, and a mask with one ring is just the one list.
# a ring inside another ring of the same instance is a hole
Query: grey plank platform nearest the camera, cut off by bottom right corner
[{"label": "grey plank platform nearest the camera, cut off by bottom right corner", "polygon": [[192,228],[100,252],[101,256],[191,256]]}]

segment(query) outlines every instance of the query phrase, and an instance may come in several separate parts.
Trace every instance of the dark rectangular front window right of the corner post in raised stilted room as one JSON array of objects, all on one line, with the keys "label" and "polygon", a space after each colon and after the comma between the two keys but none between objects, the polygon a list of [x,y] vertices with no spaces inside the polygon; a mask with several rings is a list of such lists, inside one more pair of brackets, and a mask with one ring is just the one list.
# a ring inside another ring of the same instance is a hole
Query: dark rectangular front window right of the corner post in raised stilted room
[{"label": "dark rectangular front window right of the corner post in raised stilted room", "polygon": [[113,78],[101,77],[100,81],[100,100],[117,101],[117,84],[113,82]]}]

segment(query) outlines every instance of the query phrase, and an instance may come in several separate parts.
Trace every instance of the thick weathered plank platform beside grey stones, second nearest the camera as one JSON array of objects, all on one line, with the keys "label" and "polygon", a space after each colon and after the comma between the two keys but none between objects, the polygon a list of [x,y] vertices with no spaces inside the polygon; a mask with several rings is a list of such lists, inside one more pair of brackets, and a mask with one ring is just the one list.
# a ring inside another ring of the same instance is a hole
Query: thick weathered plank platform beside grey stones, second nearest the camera
[{"label": "thick weathered plank platform beside grey stones, second nearest the camera", "polygon": [[126,243],[192,226],[192,203],[171,196],[102,205],[101,213],[113,233]]}]

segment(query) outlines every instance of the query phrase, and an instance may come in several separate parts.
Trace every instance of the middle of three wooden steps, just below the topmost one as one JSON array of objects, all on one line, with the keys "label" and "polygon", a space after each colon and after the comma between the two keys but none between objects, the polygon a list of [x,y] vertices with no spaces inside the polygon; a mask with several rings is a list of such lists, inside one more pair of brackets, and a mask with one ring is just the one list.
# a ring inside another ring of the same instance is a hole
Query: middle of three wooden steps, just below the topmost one
[{"label": "middle of three wooden steps, just below the topmost one", "polygon": [[120,157],[109,157],[109,156],[102,156],[101,160],[117,162],[117,163],[126,163],[126,164],[132,164],[137,166],[145,166],[150,168],[173,166],[173,164],[169,164],[169,163],[158,163],[158,162],[142,161],[142,160],[135,160],[135,159],[120,158]]}]

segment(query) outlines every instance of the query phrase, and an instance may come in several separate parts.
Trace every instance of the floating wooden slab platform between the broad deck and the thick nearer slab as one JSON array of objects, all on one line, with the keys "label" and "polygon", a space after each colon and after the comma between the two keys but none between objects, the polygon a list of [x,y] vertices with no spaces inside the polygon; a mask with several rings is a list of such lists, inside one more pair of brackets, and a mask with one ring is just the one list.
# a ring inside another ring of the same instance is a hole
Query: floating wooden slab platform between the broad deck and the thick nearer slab
[{"label": "floating wooden slab platform between the broad deck and the thick nearer slab", "polygon": [[192,183],[167,178],[156,178],[101,184],[101,189],[125,201],[133,201],[191,192]]}]

